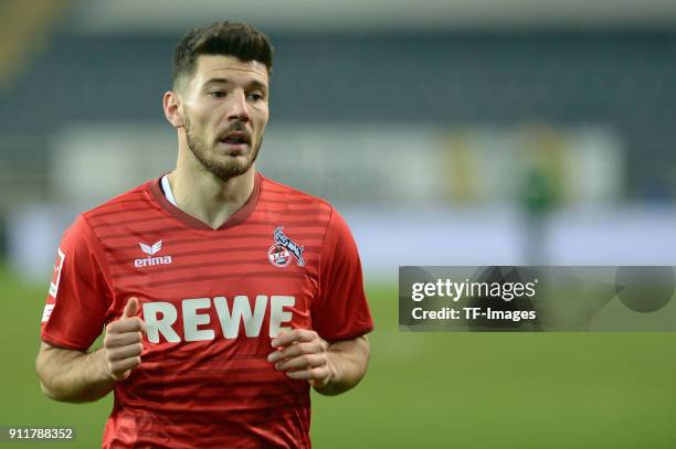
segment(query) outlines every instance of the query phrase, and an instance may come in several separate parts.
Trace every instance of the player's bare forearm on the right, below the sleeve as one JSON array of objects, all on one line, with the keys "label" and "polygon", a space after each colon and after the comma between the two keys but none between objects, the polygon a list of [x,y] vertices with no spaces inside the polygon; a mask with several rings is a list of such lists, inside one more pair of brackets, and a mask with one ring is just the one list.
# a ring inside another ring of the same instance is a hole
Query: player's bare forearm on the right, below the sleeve
[{"label": "player's bare forearm on the right, below the sleeve", "polygon": [[366,335],[331,343],[327,349],[330,377],[323,387],[315,389],[326,396],[335,396],[355,387],[366,374],[370,345]]}]

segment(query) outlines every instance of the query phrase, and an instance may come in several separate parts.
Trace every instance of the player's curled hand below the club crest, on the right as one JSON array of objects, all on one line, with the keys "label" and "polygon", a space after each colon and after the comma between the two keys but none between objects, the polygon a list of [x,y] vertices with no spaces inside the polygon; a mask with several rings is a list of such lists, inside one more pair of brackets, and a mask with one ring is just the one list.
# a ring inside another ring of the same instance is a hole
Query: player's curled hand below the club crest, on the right
[{"label": "player's curled hand below the club crest, on the right", "polygon": [[331,379],[334,368],[328,355],[328,343],[317,332],[294,329],[282,332],[272,341],[277,350],[267,356],[278,371],[291,378],[308,381],[315,388],[325,387]]}]

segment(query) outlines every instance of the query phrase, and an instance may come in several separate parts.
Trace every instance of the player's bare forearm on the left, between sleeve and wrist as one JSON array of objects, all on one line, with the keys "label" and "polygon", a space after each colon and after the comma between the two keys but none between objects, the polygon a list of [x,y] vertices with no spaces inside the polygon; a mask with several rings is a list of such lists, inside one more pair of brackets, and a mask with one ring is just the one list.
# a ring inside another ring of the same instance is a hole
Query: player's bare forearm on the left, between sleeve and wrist
[{"label": "player's bare forearm on the left, between sleeve and wrist", "polygon": [[103,350],[91,353],[43,344],[35,362],[43,393],[67,403],[93,402],[113,389]]}]

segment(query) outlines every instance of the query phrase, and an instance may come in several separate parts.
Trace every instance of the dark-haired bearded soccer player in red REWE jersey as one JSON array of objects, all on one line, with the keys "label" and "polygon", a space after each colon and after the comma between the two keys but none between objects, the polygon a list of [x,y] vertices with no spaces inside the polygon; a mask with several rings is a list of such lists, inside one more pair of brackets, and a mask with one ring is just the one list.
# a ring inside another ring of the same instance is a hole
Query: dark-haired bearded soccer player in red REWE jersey
[{"label": "dark-haired bearded soccer player in red REWE jersey", "polygon": [[272,63],[251,25],[190,31],[163,97],[176,170],[64,234],[36,370],[56,400],[114,391],[104,448],[309,448],[310,386],[336,395],[366,372],[345,221],[255,169]]}]

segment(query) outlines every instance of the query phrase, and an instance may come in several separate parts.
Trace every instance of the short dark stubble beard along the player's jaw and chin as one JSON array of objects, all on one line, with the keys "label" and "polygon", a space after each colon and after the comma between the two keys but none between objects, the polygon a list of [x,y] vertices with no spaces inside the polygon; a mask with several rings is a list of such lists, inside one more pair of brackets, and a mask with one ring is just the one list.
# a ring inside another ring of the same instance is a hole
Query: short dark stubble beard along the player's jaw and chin
[{"label": "short dark stubble beard along the player's jaw and chin", "polygon": [[[190,119],[184,117],[186,125],[186,141],[188,142],[188,148],[194,156],[194,158],[200,162],[200,164],[208,172],[212,173],[221,181],[228,181],[232,178],[240,177],[249,171],[251,165],[256,161],[258,157],[258,150],[261,149],[261,145],[263,143],[263,138],[261,138],[255,147],[252,148],[252,151],[246,156],[245,161],[240,161],[235,158],[229,158],[226,161],[219,161],[214,157],[214,154],[210,153],[210,146],[207,145],[202,136],[192,132],[192,126]],[[242,126],[242,129],[244,127]]]}]

